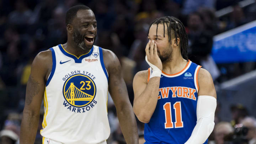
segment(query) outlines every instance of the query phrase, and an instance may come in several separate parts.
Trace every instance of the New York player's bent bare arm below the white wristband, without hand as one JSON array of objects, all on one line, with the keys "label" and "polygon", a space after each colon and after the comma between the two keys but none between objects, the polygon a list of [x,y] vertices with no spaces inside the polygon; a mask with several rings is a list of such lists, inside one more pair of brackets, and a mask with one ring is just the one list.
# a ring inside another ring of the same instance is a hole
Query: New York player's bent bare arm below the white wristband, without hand
[{"label": "New York player's bent bare arm below the white wristband, without hand", "polygon": [[139,121],[148,123],[158,101],[160,77],[148,79],[148,70],[139,71],[133,79],[133,111]]}]

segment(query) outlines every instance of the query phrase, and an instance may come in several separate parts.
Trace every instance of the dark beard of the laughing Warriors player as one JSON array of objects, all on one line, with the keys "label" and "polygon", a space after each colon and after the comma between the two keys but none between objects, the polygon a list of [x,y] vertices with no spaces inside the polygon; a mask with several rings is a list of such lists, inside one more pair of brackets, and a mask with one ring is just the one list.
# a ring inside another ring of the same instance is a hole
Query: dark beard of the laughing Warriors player
[{"label": "dark beard of the laughing Warriors player", "polygon": [[[73,39],[74,39],[75,44],[82,50],[90,50],[92,48],[93,44],[91,47],[87,47],[85,44],[84,38],[85,38],[85,36],[82,36],[82,34],[78,30],[74,30]],[[96,36],[95,36],[95,38],[96,38]]]}]

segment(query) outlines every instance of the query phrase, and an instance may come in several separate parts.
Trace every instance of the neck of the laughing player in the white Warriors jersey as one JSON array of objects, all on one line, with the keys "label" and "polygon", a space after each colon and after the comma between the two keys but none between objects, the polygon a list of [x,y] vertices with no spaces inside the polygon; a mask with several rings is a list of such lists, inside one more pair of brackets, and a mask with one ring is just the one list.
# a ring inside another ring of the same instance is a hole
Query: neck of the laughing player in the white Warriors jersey
[{"label": "neck of the laughing player in the white Warriors jersey", "polygon": [[80,47],[78,47],[76,45],[76,43],[74,41],[67,41],[65,44],[62,45],[63,48],[71,53],[71,54],[74,54],[76,57],[80,57],[81,55],[83,54],[86,54],[86,53],[89,53],[90,52],[90,49],[89,50],[84,50],[84,49],[81,49]]}]

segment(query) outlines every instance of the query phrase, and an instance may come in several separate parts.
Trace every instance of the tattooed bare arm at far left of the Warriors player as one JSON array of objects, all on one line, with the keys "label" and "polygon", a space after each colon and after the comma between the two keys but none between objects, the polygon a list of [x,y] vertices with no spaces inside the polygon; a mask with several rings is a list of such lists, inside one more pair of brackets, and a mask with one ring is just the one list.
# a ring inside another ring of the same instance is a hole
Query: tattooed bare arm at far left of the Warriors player
[{"label": "tattooed bare arm at far left of the Warriors player", "polygon": [[51,66],[51,60],[51,52],[44,51],[39,53],[32,63],[21,121],[20,144],[33,144],[36,138],[39,111],[46,85],[46,74],[48,67]]}]

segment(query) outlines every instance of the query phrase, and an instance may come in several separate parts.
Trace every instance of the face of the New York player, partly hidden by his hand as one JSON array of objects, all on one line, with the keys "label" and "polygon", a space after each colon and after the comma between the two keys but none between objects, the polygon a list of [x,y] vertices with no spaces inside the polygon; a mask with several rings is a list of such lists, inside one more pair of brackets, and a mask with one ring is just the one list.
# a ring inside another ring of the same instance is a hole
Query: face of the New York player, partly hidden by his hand
[{"label": "face of the New York player, partly hidden by his hand", "polygon": [[162,63],[170,62],[172,60],[172,44],[169,42],[167,25],[165,23],[165,37],[164,37],[164,25],[161,23],[158,24],[158,31],[156,37],[156,24],[151,25],[149,29],[148,39],[151,41],[154,40],[157,46],[158,56],[161,59]]}]

